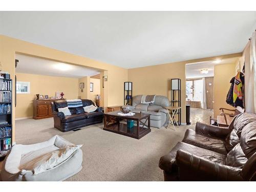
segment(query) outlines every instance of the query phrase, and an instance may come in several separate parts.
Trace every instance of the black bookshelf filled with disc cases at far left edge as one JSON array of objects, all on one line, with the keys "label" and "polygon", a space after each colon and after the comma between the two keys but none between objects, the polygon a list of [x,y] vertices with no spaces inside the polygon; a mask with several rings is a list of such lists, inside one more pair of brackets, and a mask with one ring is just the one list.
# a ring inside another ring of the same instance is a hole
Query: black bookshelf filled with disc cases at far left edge
[{"label": "black bookshelf filled with disc cases at far left edge", "polygon": [[0,161],[12,147],[12,79],[0,79]]}]

